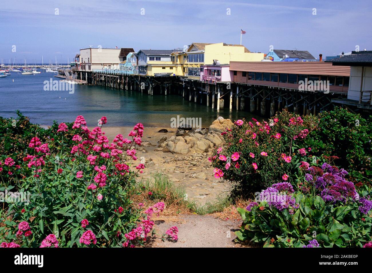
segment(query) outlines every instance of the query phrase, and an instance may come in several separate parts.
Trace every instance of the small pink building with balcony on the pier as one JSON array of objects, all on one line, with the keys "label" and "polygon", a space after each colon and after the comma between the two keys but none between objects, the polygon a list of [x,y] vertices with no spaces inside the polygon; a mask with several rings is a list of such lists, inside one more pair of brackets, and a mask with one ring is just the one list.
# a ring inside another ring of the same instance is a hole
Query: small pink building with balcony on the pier
[{"label": "small pink building with balcony on the pier", "polygon": [[210,83],[231,82],[233,71],[230,71],[228,64],[219,64],[217,60],[212,65],[203,65],[200,69],[200,80]]}]

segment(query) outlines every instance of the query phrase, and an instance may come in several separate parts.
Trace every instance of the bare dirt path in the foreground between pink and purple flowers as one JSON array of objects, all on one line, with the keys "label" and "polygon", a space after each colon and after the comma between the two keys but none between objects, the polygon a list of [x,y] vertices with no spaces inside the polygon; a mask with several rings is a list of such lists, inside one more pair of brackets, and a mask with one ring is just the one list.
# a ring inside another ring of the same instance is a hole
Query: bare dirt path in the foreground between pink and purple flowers
[{"label": "bare dirt path in the foreground between pink and purple flowers", "polygon": [[[241,247],[234,243],[234,232],[240,224],[240,221],[224,221],[211,215],[160,216],[154,226],[160,235],[149,244],[151,247]],[[178,241],[161,241],[161,234],[174,225],[178,227]]]}]

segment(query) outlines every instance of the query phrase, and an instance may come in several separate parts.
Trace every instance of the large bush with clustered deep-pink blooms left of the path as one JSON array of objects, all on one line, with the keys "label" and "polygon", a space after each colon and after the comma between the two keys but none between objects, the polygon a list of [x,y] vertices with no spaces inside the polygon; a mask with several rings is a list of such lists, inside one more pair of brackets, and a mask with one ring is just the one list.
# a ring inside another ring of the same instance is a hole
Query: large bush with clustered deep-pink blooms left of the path
[{"label": "large bush with clustered deep-pink blooms left of the path", "polygon": [[[90,131],[78,116],[73,124],[54,126],[53,138],[31,137],[23,162],[4,160],[0,191],[13,189],[13,182],[30,198],[1,210],[2,247],[122,246],[127,238],[118,234],[150,228],[137,225],[144,214],[129,198],[144,168],[131,169],[143,126],[134,127],[131,139],[118,134],[111,143],[101,127]],[[18,173],[4,175],[15,166]]]}]

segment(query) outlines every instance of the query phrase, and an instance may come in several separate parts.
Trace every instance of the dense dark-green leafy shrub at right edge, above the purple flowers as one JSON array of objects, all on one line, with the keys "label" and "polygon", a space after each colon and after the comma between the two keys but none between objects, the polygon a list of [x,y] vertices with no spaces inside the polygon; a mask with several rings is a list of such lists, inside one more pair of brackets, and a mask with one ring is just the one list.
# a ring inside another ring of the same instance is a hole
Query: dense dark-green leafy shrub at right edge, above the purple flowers
[{"label": "dense dark-green leafy shrub at right edge, above the purple flowers", "polygon": [[372,178],[372,116],[362,118],[346,109],[337,107],[319,114],[317,130],[305,139],[315,156],[337,156],[337,166],[351,171],[362,181]]}]

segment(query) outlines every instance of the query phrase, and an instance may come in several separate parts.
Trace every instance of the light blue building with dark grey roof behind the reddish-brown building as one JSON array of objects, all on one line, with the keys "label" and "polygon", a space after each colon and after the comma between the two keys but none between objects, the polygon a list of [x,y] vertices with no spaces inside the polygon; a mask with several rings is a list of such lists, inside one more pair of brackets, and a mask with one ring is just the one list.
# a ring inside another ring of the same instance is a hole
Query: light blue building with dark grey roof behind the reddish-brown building
[{"label": "light blue building with dark grey roof behind the reddish-brown building", "polygon": [[291,61],[291,62],[315,62],[317,59],[308,51],[273,49],[265,56],[265,60],[273,62]]}]

